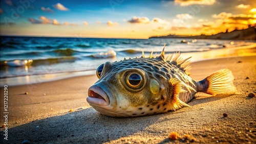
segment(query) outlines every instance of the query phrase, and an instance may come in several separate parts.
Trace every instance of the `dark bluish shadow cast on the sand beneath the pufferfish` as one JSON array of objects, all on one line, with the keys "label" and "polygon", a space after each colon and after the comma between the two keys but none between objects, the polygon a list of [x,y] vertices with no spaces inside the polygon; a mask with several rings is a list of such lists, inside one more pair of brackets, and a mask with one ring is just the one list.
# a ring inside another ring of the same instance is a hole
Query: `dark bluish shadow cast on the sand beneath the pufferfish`
[{"label": "dark bluish shadow cast on the sand beneath the pufferfish", "polygon": [[[216,101],[229,96],[195,99],[190,106]],[[191,107],[193,110],[193,107]],[[48,117],[20,125],[8,130],[8,143],[102,143],[133,135],[138,132],[152,133],[147,127],[156,123],[170,123],[175,127],[181,121],[179,112],[168,112],[142,117],[116,118],[102,115],[93,108],[79,110],[65,115]],[[172,114],[172,117],[169,115]],[[178,122],[177,122],[178,123]],[[1,132],[1,134],[3,131]],[[163,143],[166,140],[162,141]]]}]

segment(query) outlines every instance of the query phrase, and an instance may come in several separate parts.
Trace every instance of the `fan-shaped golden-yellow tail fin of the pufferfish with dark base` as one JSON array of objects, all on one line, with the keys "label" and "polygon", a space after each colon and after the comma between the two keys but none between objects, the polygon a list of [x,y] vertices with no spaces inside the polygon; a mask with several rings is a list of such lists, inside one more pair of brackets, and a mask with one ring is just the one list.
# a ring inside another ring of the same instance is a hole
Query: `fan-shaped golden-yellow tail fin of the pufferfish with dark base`
[{"label": "fan-shaped golden-yellow tail fin of the pufferfish with dark base", "polygon": [[237,88],[233,85],[234,76],[229,69],[215,71],[204,80],[198,82],[198,92],[211,95],[233,94]]}]

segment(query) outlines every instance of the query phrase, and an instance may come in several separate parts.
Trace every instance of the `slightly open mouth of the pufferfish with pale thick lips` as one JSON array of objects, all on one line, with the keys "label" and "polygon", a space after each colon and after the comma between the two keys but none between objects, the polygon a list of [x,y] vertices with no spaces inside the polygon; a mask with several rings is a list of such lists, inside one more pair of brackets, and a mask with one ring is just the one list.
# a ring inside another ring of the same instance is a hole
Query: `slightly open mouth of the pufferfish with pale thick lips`
[{"label": "slightly open mouth of the pufferfish with pale thick lips", "polygon": [[88,89],[87,102],[93,105],[108,106],[110,100],[108,95],[99,86],[93,85]]}]

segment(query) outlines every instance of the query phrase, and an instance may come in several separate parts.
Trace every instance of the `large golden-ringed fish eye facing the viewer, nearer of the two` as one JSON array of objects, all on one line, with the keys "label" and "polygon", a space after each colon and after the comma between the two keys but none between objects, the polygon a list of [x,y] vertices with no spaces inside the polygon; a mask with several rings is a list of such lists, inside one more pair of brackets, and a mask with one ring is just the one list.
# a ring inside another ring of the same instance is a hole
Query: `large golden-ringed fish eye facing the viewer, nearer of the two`
[{"label": "large golden-ringed fish eye facing the viewer, nearer of the two", "polygon": [[143,80],[142,76],[138,73],[129,73],[125,79],[126,84],[133,89],[140,88]]}]

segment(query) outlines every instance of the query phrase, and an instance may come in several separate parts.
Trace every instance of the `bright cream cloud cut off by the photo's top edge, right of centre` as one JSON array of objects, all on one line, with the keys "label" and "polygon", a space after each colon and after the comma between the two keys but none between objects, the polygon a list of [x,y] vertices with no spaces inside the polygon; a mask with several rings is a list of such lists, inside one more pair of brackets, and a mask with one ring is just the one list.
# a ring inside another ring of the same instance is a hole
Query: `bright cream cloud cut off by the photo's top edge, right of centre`
[{"label": "bright cream cloud cut off by the photo's top edge, right of centre", "polygon": [[190,5],[213,5],[216,0],[175,0],[176,5],[190,6]]}]

